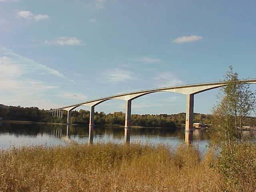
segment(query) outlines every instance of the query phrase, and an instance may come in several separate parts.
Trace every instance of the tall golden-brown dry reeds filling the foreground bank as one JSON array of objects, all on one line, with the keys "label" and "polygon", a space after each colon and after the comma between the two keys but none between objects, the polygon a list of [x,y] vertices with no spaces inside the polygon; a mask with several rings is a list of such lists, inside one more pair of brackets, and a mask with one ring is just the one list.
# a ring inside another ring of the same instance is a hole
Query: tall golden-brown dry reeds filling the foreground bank
[{"label": "tall golden-brown dry reeds filling the foreground bank", "polygon": [[71,144],[0,151],[0,191],[220,191],[214,154],[181,145]]}]

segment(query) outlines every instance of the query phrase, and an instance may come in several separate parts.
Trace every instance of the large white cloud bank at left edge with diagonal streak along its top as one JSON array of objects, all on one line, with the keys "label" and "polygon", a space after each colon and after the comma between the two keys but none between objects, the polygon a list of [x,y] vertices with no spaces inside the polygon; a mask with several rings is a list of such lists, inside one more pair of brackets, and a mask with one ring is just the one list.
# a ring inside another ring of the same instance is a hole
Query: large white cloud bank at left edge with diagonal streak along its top
[{"label": "large white cloud bank at left edge with diagonal streak along its top", "polygon": [[[0,46],[0,94],[1,103],[7,105],[38,106],[39,108],[54,108],[59,106],[59,98],[56,103],[51,102],[50,97],[56,98],[58,93],[65,98],[86,100],[87,96],[75,93],[71,94],[60,90],[58,84],[42,78],[40,74],[51,74],[65,78],[63,74],[38,64],[33,60],[20,56],[12,50]],[[45,75],[44,75],[45,76]],[[50,94],[51,93],[51,94]],[[46,97],[46,95],[48,95]],[[49,99],[49,100],[48,100]]]}]

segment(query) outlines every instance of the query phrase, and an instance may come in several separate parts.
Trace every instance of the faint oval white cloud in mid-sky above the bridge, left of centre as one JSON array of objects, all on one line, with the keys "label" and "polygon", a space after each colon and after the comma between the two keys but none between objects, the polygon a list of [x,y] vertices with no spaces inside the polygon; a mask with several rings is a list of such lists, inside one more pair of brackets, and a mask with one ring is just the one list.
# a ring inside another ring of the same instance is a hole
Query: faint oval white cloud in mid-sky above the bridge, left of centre
[{"label": "faint oval white cloud in mid-sky above the bridge, left of centre", "polygon": [[134,79],[131,71],[118,68],[107,70],[103,75],[109,82],[125,82]]}]

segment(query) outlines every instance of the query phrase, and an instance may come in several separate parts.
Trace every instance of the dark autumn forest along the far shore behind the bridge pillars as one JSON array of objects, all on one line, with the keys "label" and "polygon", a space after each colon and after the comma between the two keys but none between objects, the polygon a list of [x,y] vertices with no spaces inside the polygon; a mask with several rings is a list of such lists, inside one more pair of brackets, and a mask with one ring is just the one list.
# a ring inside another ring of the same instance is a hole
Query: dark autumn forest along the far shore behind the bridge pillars
[{"label": "dark autumn forest along the far shore behind the bridge pillars", "polygon": [[[185,124],[185,113],[179,114],[145,114],[132,115],[132,126],[143,127],[183,127]],[[72,124],[89,124],[90,111],[79,110],[72,111]],[[210,114],[194,113],[194,122],[211,124]],[[49,114],[46,110],[40,110],[37,107],[5,106],[0,104],[0,118],[2,120],[18,120],[33,122],[66,123],[67,112],[63,111],[63,117],[56,117]],[[114,112],[105,114],[104,112],[95,112],[94,123],[96,125],[124,125],[125,113]],[[256,118],[248,118],[248,125],[256,125]]]}]

